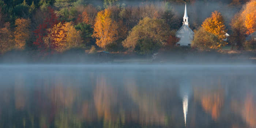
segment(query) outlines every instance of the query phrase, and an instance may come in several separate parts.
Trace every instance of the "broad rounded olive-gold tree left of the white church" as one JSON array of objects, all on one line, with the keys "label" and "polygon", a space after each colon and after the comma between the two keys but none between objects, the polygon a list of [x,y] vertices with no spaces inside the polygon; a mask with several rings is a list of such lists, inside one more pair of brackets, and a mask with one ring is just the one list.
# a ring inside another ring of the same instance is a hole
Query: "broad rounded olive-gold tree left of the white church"
[{"label": "broad rounded olive-gold tree left of the white church", "polygon": [[144,41],[146,38],[157,44],[165,44],[170,35],[169,28],[162,19],[146,17],[129,32],[128,37],[122,42],[123,46],[133,50],[138,41]]}]

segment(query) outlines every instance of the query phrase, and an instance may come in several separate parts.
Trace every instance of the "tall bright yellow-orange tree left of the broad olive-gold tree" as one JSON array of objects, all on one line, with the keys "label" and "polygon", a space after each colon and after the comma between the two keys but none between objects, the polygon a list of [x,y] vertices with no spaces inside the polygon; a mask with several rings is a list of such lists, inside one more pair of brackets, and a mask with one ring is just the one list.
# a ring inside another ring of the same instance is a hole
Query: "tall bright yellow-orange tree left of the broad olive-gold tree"
[{"label": "tall bright yellow-orange tree left of the broad olive-gold tree", "polygon": [[105,9],[98,12],[94,24],[94,33],[92,37],[96,38],[96,44],[101,48],[113,43],[118,39],[116,22],[110,18],[111,11]]}]

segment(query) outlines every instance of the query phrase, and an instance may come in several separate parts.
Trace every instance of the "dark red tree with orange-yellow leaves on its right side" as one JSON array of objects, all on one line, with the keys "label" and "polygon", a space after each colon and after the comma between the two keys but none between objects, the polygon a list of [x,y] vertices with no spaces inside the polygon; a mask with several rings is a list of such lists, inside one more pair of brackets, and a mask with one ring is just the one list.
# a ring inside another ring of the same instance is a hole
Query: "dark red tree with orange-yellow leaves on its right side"
[{"label": "dark red tree with orange-yellow leaves on its right side", "polygon": [[34,31],[37,39],[33,44],[37,46],[40,52],[53,53],[54,49],[57,49],[59,46],[56,38],[59,38],[58,35],[62,30],[61,27],[64,26],[63,23],[58,25],[59,22],[60,20],[58,20],[54,10],[48,7],[48,16],[46,16],[44,22]]}]

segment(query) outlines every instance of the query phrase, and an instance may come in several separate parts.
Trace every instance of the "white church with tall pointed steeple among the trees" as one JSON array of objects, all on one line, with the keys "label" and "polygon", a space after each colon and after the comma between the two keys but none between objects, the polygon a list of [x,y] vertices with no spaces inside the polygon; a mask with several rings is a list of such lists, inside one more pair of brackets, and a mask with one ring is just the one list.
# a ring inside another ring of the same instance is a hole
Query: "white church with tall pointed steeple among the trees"
[{"label": "white church with tall pointed steeple among the trees", "polygon": [[191,41],[194,37],[194,32],[189,28],[188,14],[187,14],[187,4],[185,4],[185,14],[183,17],[183,25],[176,32],[176,36],[180,38],[180,41],[177,42],[178,46],[190,46]]}]

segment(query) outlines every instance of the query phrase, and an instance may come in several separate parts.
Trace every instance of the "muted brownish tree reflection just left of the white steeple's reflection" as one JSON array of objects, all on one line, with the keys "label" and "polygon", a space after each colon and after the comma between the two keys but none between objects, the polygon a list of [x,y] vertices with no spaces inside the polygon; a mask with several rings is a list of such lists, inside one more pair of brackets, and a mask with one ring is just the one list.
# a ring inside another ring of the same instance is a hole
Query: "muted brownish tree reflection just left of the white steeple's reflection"
[{"label": "muted brownish tree reflection just left of the white steeple's reflection", "polygon": [[132,100],[138,105],[139,110],[135,110],[131,113],[133,120],[139,120],[140,124],[165,124],[165,112],[162,110],[159,101],[161,93],[152,95],[151,92],[146,90],[138,91],[134,80],[129,80],[126,87],[128,93],[131,95]]}]

